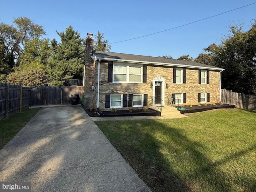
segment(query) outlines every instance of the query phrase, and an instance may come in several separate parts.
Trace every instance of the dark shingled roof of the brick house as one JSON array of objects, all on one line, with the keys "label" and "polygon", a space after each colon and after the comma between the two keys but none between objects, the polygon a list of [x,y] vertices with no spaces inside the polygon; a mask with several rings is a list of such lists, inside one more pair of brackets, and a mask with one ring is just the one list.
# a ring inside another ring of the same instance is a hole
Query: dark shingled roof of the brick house
[{"label": "dark shingled roof of the brick house", "polygon": [[177,59],[167,59],[160,57],[152,56],[142,56],[142,55],[132,55],[124,53],[115,53],[115,52],[104,52],[104,51],[93,51],[94,56],[100,60],[107,61],[116,61],[116,62],[131,62],[131,63],[140,63],[140,64],[154,64],[162,66],[172,66],[180,68],[196,68],[196,69],[206,69],[206,70],[216,70],[223,71],[224,69],[201,64],[192,61],[177,60]]}]

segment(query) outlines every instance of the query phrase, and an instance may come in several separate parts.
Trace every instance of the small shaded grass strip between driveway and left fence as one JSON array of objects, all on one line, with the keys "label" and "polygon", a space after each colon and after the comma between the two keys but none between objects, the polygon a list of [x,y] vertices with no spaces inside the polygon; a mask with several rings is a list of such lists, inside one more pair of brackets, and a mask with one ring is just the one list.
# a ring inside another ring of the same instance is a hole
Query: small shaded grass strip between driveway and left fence
[{"label": "small shaded grass strip between driveway and left fence", "polygon": [[0,120],[0,149],[4,147],[40,109],[41,108],[26,109],[7,119]]}]

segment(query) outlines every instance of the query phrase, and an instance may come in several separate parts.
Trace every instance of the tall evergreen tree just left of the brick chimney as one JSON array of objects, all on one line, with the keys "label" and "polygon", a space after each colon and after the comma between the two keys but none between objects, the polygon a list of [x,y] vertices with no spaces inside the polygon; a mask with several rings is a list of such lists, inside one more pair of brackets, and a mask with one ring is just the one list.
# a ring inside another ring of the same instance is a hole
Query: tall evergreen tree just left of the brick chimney
[{"label": "tall evergreen tree just left of the brick chimney", "polygon": [[60,43],[52,40],[52,70],[50,84],[63,86],[65,79],[79,79],[83,77],[85,64],[84,39],[80,33],[73,30],[72,26],[66,28],[66,32],[58,32]]}]

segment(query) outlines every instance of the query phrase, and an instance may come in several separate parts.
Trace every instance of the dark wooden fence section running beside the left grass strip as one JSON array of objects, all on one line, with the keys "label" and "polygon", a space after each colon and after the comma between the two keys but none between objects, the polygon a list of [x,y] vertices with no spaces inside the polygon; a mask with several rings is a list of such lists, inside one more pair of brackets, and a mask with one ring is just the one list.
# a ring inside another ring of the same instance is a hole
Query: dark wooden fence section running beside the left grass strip
[{"label": "dark wooden fence section running beside the left grass strip", "polygon": [[0,119],[29,107],[29,88],[0,83]]}]

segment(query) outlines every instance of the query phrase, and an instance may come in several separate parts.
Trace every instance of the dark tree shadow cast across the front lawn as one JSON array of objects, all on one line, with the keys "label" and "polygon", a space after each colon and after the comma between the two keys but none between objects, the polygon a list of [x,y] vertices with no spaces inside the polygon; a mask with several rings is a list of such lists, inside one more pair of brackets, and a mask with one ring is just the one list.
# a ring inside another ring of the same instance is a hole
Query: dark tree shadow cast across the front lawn
[{"label": "dark tree shadow cast across the front lawn", "polygon": [[[133,122],[132,125],[125,125],[124,128],[121,126],[114,130],[120,136],[120,140],[113,143],[153,191],[232,192],[235,186],[229,180],[233,178],[230,178],[219,166],[256,149],[254,145],[212,162],[200,152],[200,149],[207,146],[191,140],[180,129],[166,127],[166,124],[161,124],[161,121],[154,123],[157,125],[154,128],[152,126],[142,128],[140,122]],[[158,129],[158,127],[165,128]],[[121,132],[124,131],[126,134],[122,138]],[[133,134],[126,142],[125,137],[129,132]],[[166,134],[170,137],[165,138]],[[109,137],[108,134],[106,135]],[[161,140],[155,135],[162,135]],[[111,138],[110,141],[112,141]],[[252,179],[247,183],[251,183],[252,186],[246,186],[246,188],[253,191],[255,180]]]}]

